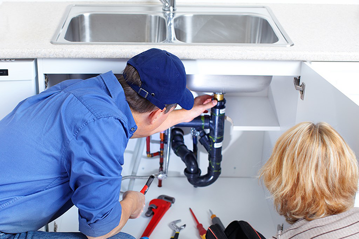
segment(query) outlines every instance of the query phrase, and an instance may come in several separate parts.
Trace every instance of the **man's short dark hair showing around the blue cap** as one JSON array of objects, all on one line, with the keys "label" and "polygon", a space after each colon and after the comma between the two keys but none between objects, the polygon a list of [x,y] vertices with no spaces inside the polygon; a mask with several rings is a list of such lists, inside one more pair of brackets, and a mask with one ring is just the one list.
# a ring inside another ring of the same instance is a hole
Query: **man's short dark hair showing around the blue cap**
[{"label": "man's short dark hair showing around the blue cap", "polygon": [[[118,78],[118,82],[124,89],[126,100],[130,108],[137,113],[147,113],[158,109],[157,106],[153,105],[146,98],[139,95],[127,84],[127,82],[129,82],[141,87],[142,82],[137,70],[133,66],[127,65],[124,69],[124,74],[126,74],[126,79],[121,76]],[[177,104],[166,105],[165,113],[168,113],[171,108],[176,107],[176,105]]]}]

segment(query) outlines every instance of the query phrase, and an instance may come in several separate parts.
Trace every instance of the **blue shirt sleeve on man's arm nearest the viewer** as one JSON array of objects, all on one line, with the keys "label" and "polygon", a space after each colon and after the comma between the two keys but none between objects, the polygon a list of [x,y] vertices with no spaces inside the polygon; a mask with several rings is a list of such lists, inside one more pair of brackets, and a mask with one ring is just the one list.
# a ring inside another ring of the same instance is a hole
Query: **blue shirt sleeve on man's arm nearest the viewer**
[{"label": "blue shirt sleeve on man's arm nearest the viewer", "polygon": [[121,219],[126,132],[117,118],[99,118],[80,129],[68,145],[63,163],[74,192],[72,202],[78,208],[79,231],[85,235],[105,235]]}]

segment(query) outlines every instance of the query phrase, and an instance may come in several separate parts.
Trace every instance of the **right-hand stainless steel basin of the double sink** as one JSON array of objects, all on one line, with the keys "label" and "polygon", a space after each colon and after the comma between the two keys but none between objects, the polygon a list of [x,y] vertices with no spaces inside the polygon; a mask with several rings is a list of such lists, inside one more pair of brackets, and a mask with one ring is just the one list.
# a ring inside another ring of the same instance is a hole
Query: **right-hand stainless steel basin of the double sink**
[{"label": "right-hand stainless steel basin of the double sink", "polygon": [[184,14],[174,18],[178,41],[185,43],[273,44],[278,37],[267,19],[243,15]]}]

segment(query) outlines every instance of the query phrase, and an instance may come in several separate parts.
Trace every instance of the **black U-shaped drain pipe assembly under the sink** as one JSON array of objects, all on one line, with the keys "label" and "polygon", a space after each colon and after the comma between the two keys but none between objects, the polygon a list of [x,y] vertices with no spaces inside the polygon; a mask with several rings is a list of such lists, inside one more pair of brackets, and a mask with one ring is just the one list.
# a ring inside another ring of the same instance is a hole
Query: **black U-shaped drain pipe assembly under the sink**
[{"label": "black U-shaped drain pipe assembly under the sink", "polygon": [[[200,143],[208,152],[209,165],[207,174],[201,176],[201,169],[198,167],[195,154],[184,144],[183,131],[179,128],[172,129],[172,149],[186,164],[184,173],[188,182],[196,187],[211,185],[221,174],[226,99],[223,97],[223,94],[215,94],[214,98],[217,99],[217,105],[211,109],[209,124],[206,124],[208,116],[198,116],[191,122],[176,125],[192,127],[200,131]],[[209,134],[204,131],[207,127],[210,130]]]}]

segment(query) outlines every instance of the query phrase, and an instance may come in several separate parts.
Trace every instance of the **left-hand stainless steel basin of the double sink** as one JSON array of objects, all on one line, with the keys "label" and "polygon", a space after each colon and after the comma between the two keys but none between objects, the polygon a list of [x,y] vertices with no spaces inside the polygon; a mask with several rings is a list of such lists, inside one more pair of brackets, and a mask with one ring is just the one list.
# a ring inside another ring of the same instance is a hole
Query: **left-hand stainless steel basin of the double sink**
[{"label": "left-hand stainless steel basin of the double sink", "polygon": [[154,14],[84,13],[71,18],[64,39],[83,43],[159,43],[166,21]]}]

